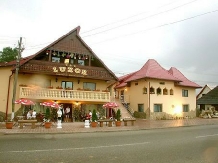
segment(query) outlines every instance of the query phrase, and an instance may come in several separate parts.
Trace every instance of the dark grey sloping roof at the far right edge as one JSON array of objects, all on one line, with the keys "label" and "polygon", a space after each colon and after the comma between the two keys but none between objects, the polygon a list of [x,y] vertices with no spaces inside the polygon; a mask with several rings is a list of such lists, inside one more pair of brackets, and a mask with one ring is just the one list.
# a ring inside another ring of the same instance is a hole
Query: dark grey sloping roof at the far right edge
[{"label": "dark grey sloping roof at the far right edge", "polygon": [[197,100],[197,105],[215,105],[218,104],[218,86]]}]

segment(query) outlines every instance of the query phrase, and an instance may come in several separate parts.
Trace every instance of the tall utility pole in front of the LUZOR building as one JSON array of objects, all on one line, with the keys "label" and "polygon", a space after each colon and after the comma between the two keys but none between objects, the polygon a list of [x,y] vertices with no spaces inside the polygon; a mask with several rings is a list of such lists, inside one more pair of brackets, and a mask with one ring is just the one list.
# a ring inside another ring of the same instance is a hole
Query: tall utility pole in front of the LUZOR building
[{"label": "tall utility pole in front of the LUZOR building", "polygon": [[21,53],[23,49],[21,48],[22,45],[22,37],[20,37],[20,41],[18,41],[18,54],[16,59],[16,69],[15,69],[15,75],[14,75],[14,87],[13,87],[13,98],[12,98],[12,113],[11,113],[11,119],[14,119],[14,107],[15,107],[15,98],[16,98],[16,90],[17,90],[17,78],[18,78],[18,71],[20,67],[20,58]]}]

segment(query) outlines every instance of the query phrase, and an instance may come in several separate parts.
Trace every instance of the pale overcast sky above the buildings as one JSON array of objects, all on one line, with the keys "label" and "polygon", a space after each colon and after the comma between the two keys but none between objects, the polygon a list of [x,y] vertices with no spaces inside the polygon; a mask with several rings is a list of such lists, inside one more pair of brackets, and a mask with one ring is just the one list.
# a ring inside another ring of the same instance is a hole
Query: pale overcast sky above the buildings
[{"label": "pale overcast sky above the buildings", "polygon": [[79,35],[118,77],[148,59],[189,80],[218,85],[217,0],[0,0],[0,51],[35,54],[80,26]]}]

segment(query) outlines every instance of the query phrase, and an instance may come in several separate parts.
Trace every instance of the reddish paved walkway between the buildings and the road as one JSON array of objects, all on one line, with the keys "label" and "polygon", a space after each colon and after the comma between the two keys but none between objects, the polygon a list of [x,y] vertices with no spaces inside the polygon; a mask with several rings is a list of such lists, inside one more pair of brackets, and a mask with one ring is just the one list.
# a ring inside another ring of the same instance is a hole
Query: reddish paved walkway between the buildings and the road
[{"label": "reddish paved walkway between the buildings and the road", "polygon": [[84,122],[69,122],[62,123],[62,128],[57,128],[57,124],[53,124],[50,129],[45,129],[39,124],[36,125],[35,129],[31,129],[30,124],[26,124],[23,129],[18,126],[14,126],[12,129],[6,129],[5,123],[0,122],[0,133],[1,134],[24,134],[24,133],[84,133],[84,132],[109,132],[109,131],[128,131],[128,130],[144,130],[144,129],[156,129],[156,128],[170,128],[170,127],[182,127],[182,126],[196,126],[196,125],[217,125],[218,118],[214,119],[179,119],[179,120],[144,120],[136,119],[135,125],[131,126],[128,123],[127,126],[122,125],[116,127],[114,124],[112,127],[106,126],[96,128],[85,128]]}]

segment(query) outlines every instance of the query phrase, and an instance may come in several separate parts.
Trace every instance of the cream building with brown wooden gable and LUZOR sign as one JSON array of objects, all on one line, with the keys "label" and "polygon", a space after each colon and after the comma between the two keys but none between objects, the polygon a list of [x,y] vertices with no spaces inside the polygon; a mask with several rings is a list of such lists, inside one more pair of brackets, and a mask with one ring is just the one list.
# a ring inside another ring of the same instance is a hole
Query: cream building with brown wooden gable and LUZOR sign
[{"label": "cream building with brown wooden gable and LUZOR sign", "polygon": [[[77,118],[111,101],[112,85],[118,79],[86,45],[79,31],[77,27],[36,54],[21,58],[16,99],[31,99],[37,112],[45,112],[40,103],[56,101],[64,108],[69,106]],[[16,61],[0,63],[1,117],[12,113],[15,67]],[[15,116],[22,107],[31,106],[15,104]]]}]

